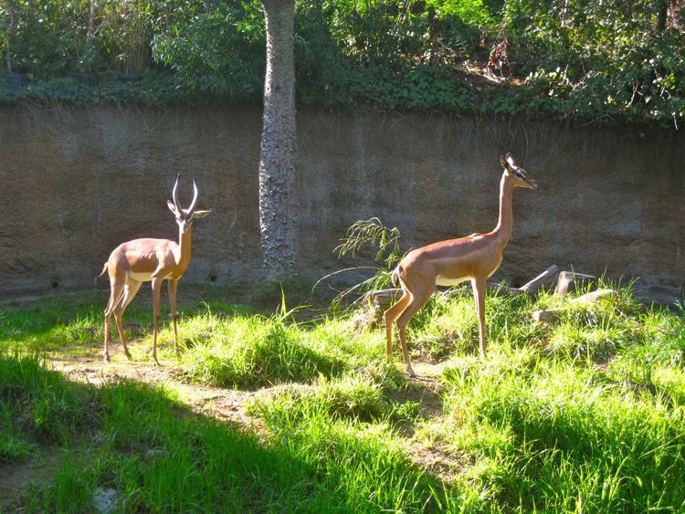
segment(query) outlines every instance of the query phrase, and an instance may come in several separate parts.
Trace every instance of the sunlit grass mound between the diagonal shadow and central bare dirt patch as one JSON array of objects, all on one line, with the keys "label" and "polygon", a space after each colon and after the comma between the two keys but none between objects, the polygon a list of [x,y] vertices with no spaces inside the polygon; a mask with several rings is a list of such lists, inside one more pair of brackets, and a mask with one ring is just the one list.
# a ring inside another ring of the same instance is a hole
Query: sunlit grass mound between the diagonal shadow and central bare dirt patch
[{"label": "sunlit grass mound between the diagonal shadow and central bare dirt patch", "polygon": [[251,412],[273,444],[317,470],[321,488],[345,498],[346,511],[422,512],[453,502],[397,444],[381,384],[368,377],[285,389],[255,402]]}]

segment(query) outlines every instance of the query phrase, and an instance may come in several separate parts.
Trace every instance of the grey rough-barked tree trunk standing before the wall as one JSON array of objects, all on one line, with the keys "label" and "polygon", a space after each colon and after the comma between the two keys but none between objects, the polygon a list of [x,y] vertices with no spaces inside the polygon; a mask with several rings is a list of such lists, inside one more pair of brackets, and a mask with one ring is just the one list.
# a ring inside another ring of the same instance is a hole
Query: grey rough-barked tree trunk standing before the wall
[{"label": "grey rough-barked tree trunk standing before the wall", "polygon": [[262,0],[267,27],[264,125],[259,155],[259,228],[266,278],[292,271],[295,259],[294,0]]}]

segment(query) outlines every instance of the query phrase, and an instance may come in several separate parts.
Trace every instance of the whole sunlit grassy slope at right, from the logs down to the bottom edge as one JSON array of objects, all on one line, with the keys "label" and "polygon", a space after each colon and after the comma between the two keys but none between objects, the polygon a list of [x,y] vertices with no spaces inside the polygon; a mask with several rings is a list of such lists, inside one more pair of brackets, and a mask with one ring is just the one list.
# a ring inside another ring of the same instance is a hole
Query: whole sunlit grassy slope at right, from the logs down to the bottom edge
[{"label": "whole sunlit grassy slope at right, from the logs down to the bottom edge", "polygon": [[[682,311],[641,306],[629,288],[593,304],[488,301],[501,309],[488,362],[453,351],[446,416],[419,429],[472,459],[458,483],[524,511],[685,509]],[[542,307],[563,309],[535,326]],[[415,330],[459,309],[438,304]]]}]

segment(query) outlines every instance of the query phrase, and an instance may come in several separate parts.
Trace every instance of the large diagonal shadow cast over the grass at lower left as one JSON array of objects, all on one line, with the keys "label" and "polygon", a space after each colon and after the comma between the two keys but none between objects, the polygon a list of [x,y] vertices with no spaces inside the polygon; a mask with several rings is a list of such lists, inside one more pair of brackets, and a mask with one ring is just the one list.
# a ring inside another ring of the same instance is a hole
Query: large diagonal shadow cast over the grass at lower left
[{"label": "large diagonal shadow cast over the grass at lower left", "polygon": [[[310,459],[301,448],[265,446],[242,427],[195,414],[162,387],[72,383],[37,357],[6,352],[0,383],[3,433],[60,453],[47,483],[27,483],[13,509],[90,511],[102,490],[121,511],[374,511],[386,507],[374,496],[389,498],[376,491],[360,503],[359,485],[350,489],[350,468],[339,462],[383,464],[385,456],[347,436],[334,456]],[[4,462],[0,475],[33,454]],[[436,481],[409,464],[390,461],[387,473],[384,487],[392,497],[403,492],[395,503],[408,509],[436,495]]]}]

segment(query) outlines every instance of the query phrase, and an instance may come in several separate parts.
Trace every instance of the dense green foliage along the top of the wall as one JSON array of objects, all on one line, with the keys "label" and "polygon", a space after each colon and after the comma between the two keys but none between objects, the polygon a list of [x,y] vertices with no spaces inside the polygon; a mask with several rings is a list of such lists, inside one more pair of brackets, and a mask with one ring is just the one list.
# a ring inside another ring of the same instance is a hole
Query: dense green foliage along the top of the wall
[{"label": "dense green foliage along the top of the wall", "polygon": [[[30,81],[0,101],[258,105],[260,8],[7,0],[0,51]],[[294,43],[300,105],[685,122],[682,0],[298,0]]]}]

